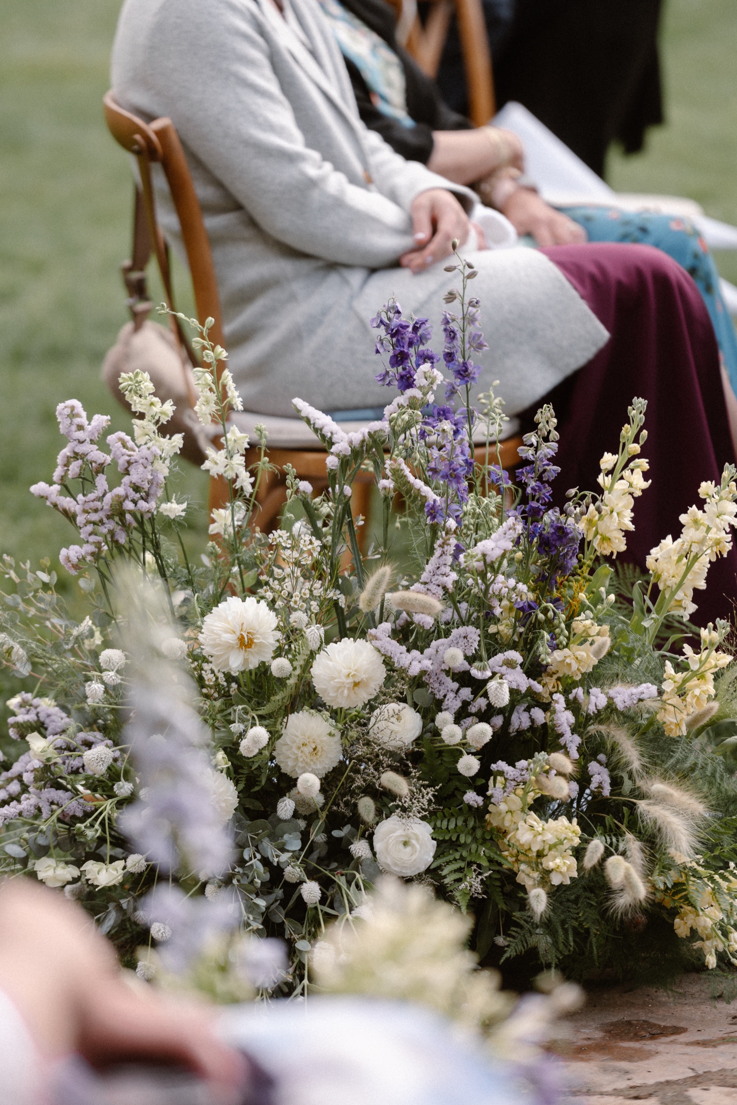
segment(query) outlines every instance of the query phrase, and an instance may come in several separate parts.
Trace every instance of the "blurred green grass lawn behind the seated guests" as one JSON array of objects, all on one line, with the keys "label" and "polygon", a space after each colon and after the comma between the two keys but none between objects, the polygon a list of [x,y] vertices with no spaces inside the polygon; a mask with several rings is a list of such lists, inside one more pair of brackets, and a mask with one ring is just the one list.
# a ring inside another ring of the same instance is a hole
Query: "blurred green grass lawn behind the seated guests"
[{"label": "blurred green grass lawn behind the seated guests", "polygon": [[[126,320],[130,182],[101,109],[118,7],[0,0],[0,551],[32,561],[72,536],[28,493],[54,467],[56,404],[76,397],[127,428],[98,378]],[[735,0],[668,0],[668,123],[643,155],[612,155],[617,188],[692,196],[737,223],[736,41]],[[737,257],[718,261],[737,281]],[[182,483],[203,499],[202,473]],[[204,528],[200,514],[194,544]]]}]

